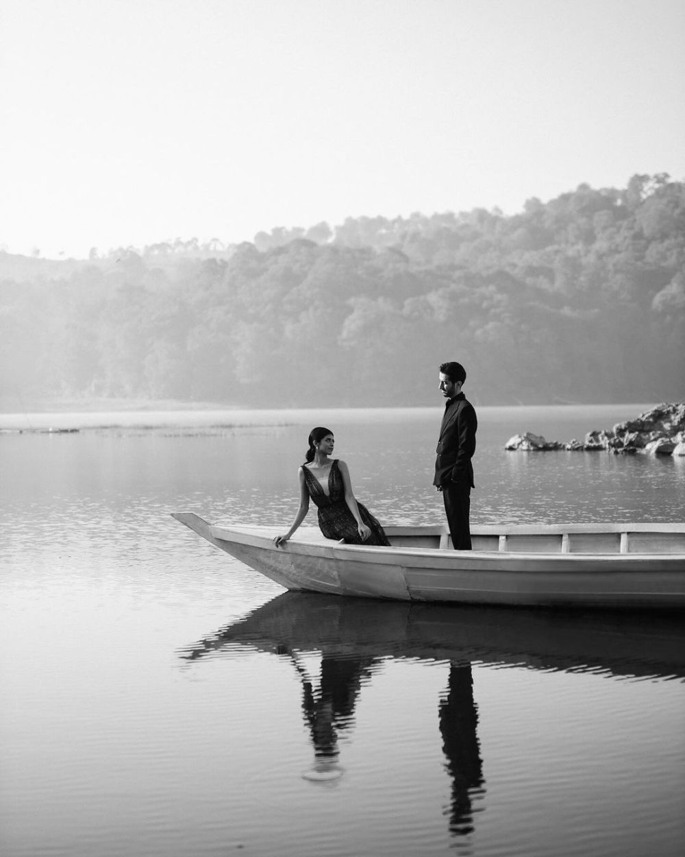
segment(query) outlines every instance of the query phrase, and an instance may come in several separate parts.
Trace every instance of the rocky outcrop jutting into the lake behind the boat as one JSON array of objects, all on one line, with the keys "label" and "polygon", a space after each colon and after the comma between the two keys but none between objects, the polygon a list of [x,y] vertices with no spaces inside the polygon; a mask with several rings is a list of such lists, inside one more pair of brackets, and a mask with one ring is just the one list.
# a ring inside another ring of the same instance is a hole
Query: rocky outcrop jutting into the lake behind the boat
[{"label": "rocky outcrop jutting into the lake behind the boat", "polygon": [[515,434],[504,444],[515,452],[596,452],[605,450],[616,455],[685,456],[685,402],[664,403],[646,411],[634,420],[617,423],[614,428],[591,431],[585,440],[545,440],[541,434]]}]

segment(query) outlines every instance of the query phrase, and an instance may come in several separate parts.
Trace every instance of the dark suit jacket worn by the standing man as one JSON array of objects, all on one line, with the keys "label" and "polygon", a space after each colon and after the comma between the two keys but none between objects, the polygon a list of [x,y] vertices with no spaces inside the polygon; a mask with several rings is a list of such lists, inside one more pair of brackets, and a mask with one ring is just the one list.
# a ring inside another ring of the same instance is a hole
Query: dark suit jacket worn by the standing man
[{"label": "dark suit jacket worn by the standing man", "polygon": [[476,450],[478,419],[474,405],[463,393],[455,396],[445,407],[438,437],[435,478],[433,485],[448,483],[475,488],[474,466],[471,458]]}]

